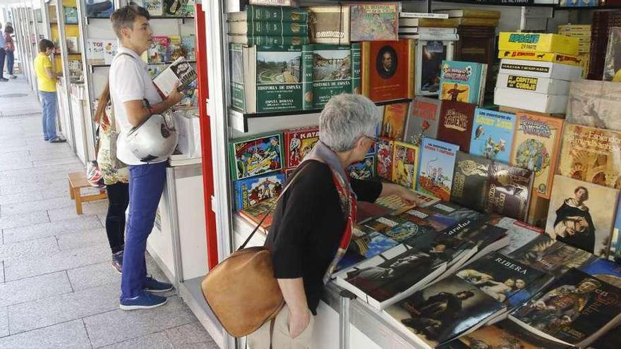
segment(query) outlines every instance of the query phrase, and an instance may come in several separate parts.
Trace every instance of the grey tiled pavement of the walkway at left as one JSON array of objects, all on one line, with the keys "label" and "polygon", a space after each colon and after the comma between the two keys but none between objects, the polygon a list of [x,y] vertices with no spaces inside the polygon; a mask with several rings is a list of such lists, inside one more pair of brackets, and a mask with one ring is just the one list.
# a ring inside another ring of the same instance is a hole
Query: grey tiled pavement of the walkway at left
[{"label": "grey tiled pavement of the walkway at left", "polygon": [[[15,93],[28,96],[3,97]],[[0,83],[0,348],[217,348],[174,292],[154,310],[119,310],[107,202],[76,214],[66,173],[83,165],[42,140],[37,110],[23,76]]]}]

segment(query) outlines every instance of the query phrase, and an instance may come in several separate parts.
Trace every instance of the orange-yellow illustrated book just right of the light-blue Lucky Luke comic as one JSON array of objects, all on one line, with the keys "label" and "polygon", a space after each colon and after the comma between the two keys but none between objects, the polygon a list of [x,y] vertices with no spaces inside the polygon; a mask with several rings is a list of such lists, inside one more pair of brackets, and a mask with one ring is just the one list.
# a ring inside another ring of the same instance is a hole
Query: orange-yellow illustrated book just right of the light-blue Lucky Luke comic
[{"label": "orange-yellow illustrated book just right of the light-blue Lucky Luke comic", "polygon": [[516,117],[509,163],[533,171],[533,190],[539,197],[549,199],[564,121],[522,111]]}]

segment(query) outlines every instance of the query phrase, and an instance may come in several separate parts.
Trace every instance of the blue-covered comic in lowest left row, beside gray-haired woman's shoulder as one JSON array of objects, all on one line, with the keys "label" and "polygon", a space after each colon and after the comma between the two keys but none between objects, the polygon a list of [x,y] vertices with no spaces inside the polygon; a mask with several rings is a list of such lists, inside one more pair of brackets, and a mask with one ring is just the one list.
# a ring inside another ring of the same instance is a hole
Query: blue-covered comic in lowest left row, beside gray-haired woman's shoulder
[{"label": "blue-covered comic in lowest left row, beside gray-haired woman's shoulder", "polygon": [[284,174],[245,178],[233,182],[235,209],[245,209],[267,199],[278,197],[284,188]]}]

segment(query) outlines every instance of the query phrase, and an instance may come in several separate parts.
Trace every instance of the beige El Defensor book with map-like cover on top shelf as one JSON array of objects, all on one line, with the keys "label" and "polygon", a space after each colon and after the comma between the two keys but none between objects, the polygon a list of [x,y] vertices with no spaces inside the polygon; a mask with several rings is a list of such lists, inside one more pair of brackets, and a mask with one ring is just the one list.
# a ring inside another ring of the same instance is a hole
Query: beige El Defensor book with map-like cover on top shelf
[{"label": "beige El Defensor book with map-like cover on top shelf", "polygon": [[356,4],[349,8],[351,41],[397,40],[399,6]]}]

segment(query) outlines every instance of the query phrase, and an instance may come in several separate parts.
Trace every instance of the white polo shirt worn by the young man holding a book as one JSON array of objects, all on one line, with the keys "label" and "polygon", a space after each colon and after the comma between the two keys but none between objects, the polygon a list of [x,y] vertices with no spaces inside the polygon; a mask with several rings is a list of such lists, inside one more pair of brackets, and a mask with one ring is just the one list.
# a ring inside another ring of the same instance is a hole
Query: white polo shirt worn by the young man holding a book
[{"label": "white polo shirt worn by the young man holding a book", "polygon": [[[131,54],[127,56],[127,53]],[[128,148],[126,135],[133,127],[128,119],[124,102],[147,99],[151,105],[162,102],[147,71],[147,63],[138,54],[125,47],[119,47],[112,60],[109,74],[110,97],[114,105],[114,118],[119,137],[116,140],[116,157],[128,165],[143,165]],[[166,159],[162,160],[166,161]],[[156,161],[156,162],[162,162]]]}]

